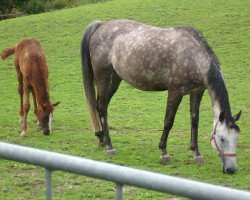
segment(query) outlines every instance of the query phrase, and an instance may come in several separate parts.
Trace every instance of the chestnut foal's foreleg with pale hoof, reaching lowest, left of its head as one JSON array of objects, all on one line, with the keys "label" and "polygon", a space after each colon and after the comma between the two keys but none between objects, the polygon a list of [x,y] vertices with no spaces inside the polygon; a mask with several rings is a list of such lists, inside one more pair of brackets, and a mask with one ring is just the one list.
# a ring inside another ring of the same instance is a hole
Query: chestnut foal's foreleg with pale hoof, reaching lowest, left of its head
[{"label": "chestnut foal's foreleg with pale hoof, reaching lowest, left of its head", "polygon": [[30,109],[29,94],[30,94],[30,89],[24,83],[23,85],[23,122],[22,122],[22,132],[20,136],[27,135],[27,115]]}]

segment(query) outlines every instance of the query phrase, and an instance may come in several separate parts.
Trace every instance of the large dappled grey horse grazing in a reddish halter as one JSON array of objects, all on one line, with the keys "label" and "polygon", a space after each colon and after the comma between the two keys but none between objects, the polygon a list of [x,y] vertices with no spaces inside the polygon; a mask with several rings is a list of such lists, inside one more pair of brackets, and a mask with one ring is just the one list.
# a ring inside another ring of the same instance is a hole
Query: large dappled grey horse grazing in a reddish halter
[{"label": "large dappled grey horse grazing in a reddish halter", "polygon": [[[198,148],[199,107],[208,89],[214,125],[211,139],[223,172],[236,170],[236,143],[241,112],[232,116],[220,64],[203,36],[191,27],[158,28],[131,20],[94,22],[81,42],[85,95],[93,129],[101,146],[115,153],[109,136],[107,108],[119,84],[144,91],[168,90],[161,161],[169,161],[167,139],[184,95],[190,95],[191,142],[195,161],[203,162]],[[95,85],[96,84],[96,88]],[[97,90],[97,95],[96,91]]]}]

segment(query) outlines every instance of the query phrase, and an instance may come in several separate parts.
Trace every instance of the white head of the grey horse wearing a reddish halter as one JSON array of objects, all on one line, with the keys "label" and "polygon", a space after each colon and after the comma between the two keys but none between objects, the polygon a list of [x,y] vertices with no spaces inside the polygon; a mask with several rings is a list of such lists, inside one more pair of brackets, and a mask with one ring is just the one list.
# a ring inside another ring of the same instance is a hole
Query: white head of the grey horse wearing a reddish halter
[{"label": "white head of the grey horse wearing a reddish halter", "polygon": [[231,120],[226,120],[226,113],[220,113],[211,137],[211,145],[218,152],[223,164],[223,172],[232,174],[236,171],[236,144],[240,129],[236,124],[241,111]]}]

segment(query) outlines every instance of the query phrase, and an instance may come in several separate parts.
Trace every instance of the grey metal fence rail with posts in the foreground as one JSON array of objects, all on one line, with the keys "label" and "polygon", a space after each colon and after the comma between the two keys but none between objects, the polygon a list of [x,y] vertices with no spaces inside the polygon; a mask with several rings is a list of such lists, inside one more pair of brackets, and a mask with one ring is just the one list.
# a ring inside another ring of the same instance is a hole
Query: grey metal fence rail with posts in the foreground
[{"label": "grey metal fence rail with posts in the foreground", "polygon": [[250,199],[250,192],[248,191],[241,191],[3,142],[0,142],[0,158],[44,167],[46,169],[46,199],[52,199],[52,170],[60,170],[112,181],[116,183],[116,199],[122,199],[123,185],[131,185],[189,197],[191,199]]}]

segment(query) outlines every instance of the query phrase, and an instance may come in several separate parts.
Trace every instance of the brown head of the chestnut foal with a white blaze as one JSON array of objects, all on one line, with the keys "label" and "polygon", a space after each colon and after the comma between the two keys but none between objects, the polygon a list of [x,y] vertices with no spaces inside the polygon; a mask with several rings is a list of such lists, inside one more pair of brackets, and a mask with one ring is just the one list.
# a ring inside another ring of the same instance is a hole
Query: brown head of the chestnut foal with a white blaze
[{"label": "brown head of the chestnut foal with a white blaze", "polygon": [[51,132],[52,114],[53,114],[54,108],[59,103],[60,102],[56,102],[53,104],[45,103],[41,105],[40,108],[38,108],[38,121],[45,135],[49,135]]}]

